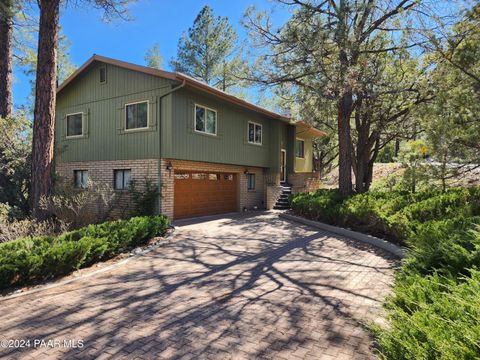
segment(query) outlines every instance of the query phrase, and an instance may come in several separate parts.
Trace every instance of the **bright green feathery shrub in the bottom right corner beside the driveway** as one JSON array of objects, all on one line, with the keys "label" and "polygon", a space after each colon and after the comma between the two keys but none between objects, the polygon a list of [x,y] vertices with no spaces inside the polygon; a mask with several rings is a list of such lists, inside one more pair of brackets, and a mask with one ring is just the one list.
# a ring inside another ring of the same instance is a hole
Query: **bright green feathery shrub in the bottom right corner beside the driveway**
[{"label": "bright green feathery shrub in the bottom right corner beside the driveway", "polygon": [[480,273],[457,283],[438,274],[411,275],[387,300],[389,329],[375,333],[385,359],[478,359]]}]

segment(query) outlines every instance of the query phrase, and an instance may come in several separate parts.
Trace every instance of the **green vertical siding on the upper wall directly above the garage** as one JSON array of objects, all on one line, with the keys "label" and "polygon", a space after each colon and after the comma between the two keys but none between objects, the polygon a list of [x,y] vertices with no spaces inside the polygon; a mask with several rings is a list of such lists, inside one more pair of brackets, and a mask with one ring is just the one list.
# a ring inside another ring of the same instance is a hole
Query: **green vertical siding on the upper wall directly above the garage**
[{"label": "green vertical siding on the upper wall directly above the garage", "polygon": [[[195,131],[195,104],[217,111],[216,136]],[[163,157],[259,167],[276,166],[278,162],[279,135],[286,127],[278,120],[190,89],[172,94],[172,119],[171,127],[163,126]],[[248,143],[249,121],[263,126],[261,146]]]}]

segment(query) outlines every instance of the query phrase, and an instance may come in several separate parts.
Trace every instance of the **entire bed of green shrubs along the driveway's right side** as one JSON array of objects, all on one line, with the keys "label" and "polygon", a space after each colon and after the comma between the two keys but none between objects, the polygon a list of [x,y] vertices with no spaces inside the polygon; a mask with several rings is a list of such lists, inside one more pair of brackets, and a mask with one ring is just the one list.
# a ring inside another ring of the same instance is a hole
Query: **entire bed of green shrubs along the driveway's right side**
[{"label": "entire bed of green shrubs along the driveway's right side", "polygon": [[295,214],[410,248],[374,331],[388,359],[480,357],[480,187],[446,192],[321,189],[291,198]]}]

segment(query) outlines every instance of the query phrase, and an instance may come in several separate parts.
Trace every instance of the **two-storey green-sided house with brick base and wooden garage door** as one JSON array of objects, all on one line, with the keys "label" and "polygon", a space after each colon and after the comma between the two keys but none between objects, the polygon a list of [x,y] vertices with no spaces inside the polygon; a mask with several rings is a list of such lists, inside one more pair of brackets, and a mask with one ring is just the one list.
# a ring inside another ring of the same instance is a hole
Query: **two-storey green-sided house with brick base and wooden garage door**
[{"label": "two-storey green-sided house with brick base and wooden garage door", "polygon": [[149,178],[171,218],[269,209],[282,184],[318,187],[322,131],[181,73],[94,55],[59,86],[56,114],[57,174],[120,194]]}]

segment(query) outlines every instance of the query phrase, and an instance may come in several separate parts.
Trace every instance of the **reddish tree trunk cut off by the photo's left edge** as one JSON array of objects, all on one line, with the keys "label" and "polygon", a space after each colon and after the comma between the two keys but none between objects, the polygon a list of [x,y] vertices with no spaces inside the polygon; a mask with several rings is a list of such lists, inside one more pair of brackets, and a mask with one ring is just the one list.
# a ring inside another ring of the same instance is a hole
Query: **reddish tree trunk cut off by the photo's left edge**
[{"label": "reddish tree trunk cut off by the photo's left edge", "polygon": [[12,115],[12,40],[13,9],[11,0],[3,0],[0,12],[0,117]]}]

